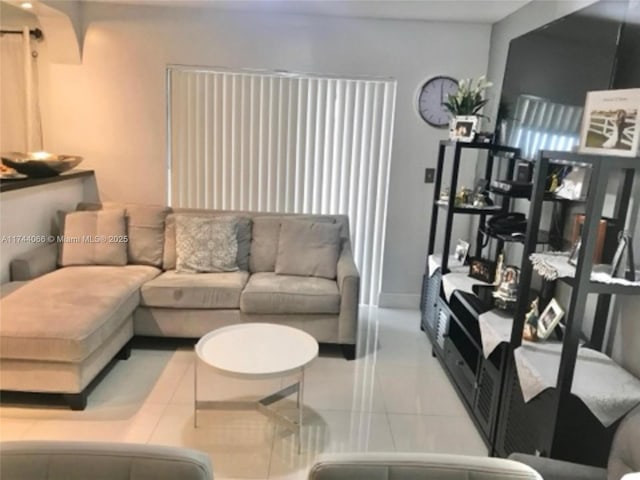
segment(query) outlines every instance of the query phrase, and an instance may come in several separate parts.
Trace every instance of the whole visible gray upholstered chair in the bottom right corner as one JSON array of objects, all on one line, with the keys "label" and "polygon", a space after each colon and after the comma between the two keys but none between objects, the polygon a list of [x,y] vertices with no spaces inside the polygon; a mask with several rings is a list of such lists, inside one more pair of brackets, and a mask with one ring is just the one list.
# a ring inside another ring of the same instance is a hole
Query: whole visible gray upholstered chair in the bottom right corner
[{"label": "whole visible gray upholstered chair in the bottom right corner", "polygon": [[627,473],[640,471],[640,405],[620,422],[606,470],[521,453],[509,458],[530,465],[544,480],[620,480]]}]

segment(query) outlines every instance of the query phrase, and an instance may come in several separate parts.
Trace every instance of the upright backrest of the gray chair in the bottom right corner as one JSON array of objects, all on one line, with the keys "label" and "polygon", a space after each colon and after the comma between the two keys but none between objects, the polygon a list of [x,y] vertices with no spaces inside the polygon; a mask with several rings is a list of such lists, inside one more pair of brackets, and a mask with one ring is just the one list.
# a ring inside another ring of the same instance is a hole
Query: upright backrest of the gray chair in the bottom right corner
[{"label": "upright backrest of the gray chair in the bottom right corner", "polygon": [[620,480],[623,475],[640,471],[640,405],[622,419],[613,438],[607,480]]}]

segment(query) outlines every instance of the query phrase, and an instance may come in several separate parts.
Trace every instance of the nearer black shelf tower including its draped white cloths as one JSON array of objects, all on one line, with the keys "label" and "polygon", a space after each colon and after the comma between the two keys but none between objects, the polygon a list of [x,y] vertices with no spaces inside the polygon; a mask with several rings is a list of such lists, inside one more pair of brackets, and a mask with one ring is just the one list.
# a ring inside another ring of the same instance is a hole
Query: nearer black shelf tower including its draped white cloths
[{"label": "nearer black shelf tower including its draped white cloths", "polygon": [[[568,263],[568,253],[536,253],[545,183],[554,164],[586,165],[591,171],[575,266]],[[538,272],[569,285],[570,299],[563,325],[556,328],[562,334],[557,340],[538,343],[522,339],[528,304],[516,305],[495,437],[497,455],[529,453],[606,466],[620,418],[640,403],[640,380],[602,351],[612,297],[640,295],[640,277],[631,282],[609,275],[607,280],[607,274],[599,272],[611,272],[612,267],[592,265],[608,182],[615,176],[620,182],[613,220],[621,229],[631,220],[629,204],[639,171],[638,157],[540,152],[535,162],[518,296],[527,295],[534,272]],[[597,303],[586,335],[584,319],[590,294],[597,296]]]}]

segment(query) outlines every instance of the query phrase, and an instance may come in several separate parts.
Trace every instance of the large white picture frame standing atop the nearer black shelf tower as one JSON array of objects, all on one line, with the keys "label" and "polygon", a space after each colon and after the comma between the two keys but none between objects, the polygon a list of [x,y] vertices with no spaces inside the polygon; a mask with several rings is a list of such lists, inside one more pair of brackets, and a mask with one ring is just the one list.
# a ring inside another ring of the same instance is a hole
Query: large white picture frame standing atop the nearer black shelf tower
[{"label": "large white picture frame standing atop the nearer black shelf tower", "polygon": [[580,153],[635,157],[640,146],[640,88],[587,92]]}]

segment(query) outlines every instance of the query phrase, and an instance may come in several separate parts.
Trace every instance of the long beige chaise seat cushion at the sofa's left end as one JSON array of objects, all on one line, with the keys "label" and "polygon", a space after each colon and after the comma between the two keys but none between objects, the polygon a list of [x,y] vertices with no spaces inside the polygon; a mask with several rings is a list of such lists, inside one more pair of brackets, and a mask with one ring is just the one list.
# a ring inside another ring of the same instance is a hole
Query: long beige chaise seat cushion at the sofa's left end
[{"label": "long beige chaise seat cushion at the sofa's left end", "polygon": [[144,265],[67,267],[0,300],[0,356],[80,362],[100,347],[160,273]]}]

